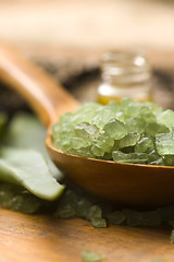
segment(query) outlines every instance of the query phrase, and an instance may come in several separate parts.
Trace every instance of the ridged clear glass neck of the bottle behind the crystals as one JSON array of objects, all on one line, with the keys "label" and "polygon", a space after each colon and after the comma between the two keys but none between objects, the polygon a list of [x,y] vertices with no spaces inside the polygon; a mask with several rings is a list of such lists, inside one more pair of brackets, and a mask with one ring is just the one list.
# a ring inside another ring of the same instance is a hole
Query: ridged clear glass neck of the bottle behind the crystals
[{"label": "ridged clear glass neck of the bottle behind the crystals", "polygon": [[147,59],[136,52],[109,52],[101,60],[104,83],[121,86],[147,84],[151,79],[151,68]]}]

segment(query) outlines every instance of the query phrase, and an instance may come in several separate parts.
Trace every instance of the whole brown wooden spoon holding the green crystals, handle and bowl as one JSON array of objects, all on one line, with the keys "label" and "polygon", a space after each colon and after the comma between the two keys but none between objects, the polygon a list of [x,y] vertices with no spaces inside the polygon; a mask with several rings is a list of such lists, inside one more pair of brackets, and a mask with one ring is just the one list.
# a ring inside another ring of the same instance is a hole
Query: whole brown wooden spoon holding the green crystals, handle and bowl
[{"label": "whole brown wooden spoon holding the green crystals, handle and bowl", "polygon": [[14,48],[0,44],[0,79],[18,92],[48,127],[51,159],[86,191],[127,206],[174,204],[174,167],[117,164],[69,155],[53,147],[51,127],[79,103]]}]

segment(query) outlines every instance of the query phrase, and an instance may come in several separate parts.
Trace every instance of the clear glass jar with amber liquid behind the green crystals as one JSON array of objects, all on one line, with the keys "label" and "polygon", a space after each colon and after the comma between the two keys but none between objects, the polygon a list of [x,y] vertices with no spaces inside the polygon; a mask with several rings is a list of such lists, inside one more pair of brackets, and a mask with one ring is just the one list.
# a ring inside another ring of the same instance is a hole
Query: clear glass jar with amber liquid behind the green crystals
[{"label": "clear glass jar with amber liquid behind the green crystals", "polygon": [[101,58],[102,83],[98,87],[98,102],[121,102],[132,97],[139,102],[152,100],[151,67],[142,52],[111,51]]}]

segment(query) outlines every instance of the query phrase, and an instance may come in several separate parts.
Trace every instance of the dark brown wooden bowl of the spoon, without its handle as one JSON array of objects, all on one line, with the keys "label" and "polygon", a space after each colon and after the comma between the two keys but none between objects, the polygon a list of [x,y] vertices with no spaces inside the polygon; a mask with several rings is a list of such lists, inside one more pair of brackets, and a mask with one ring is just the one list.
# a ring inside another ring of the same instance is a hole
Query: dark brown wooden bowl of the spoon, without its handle
[{"label": "dark brown wooden bowl of the spoon, without its handle", "polygon": [[114,163],[65,154],[52,146],[50,135],[46,145],[55,165],[94,195],[124,206],[174,204],[173,167]]}]

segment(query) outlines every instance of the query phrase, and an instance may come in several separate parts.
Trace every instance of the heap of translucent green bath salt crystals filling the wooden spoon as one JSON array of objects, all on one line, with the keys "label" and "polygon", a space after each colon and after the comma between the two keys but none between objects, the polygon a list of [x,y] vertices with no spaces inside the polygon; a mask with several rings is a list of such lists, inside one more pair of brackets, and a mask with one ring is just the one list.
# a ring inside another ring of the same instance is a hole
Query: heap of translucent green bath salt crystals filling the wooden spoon
[{"label": "heap of translucent green bath salt crystals filling the wooden spoon", "polygon": [[61,116],[52,128],[53,144],[83,157],[173,166],[173,116],[172,109],[130,98],[105,106],[87,103]]}]

